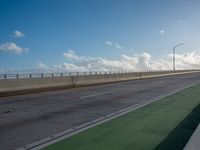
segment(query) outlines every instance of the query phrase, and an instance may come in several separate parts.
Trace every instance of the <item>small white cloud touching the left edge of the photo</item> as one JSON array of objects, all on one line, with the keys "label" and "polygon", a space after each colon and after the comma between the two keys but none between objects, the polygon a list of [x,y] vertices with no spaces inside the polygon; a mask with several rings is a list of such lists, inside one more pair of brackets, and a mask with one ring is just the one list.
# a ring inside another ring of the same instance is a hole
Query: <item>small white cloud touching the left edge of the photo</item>
[{"label": "small white cloud touching the left edge of the photo", "polygon": [[29,51],[29,49],[22,48],[12,42],[6,42],[0,45],[0,51],[21,54],[22,52]]}]

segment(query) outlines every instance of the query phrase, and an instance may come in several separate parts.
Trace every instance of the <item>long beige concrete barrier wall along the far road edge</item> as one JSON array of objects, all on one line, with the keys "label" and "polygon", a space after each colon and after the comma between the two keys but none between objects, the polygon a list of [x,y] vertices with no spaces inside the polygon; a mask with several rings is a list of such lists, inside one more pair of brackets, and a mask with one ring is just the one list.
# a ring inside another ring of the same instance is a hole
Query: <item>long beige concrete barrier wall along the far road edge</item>
[{"label": "long beige concrete barrier wall along the far road edge", "polygon": [[73,75],[63,77],[24,78],[24,79],[1,79],[0,94],[9,92],[28,91],[36,89],[50,89],[60,87],[77,87],[96,85],[110,82],[144,79],[174,74],[192,73],[197,70],[182,71],[149,71],[149,72],[126,72],[104,73],[92,75]]}]

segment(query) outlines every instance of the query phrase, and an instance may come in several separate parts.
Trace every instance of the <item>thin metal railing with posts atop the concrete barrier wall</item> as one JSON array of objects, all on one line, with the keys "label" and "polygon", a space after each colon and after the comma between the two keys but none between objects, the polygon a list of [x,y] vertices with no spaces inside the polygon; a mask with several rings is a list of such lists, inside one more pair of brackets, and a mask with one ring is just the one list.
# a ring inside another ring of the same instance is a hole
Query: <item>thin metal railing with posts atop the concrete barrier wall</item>
[{"label": "thin metal railing with posts atop the concrete barrier wall", "polygon": [[197,70],[178,70],[178,71],[96,71],[96,72],[61,72],[61,73],[19,73],[19,74],[0,74],[2,79],[30,79],[30,78],[46,78],[46,77],[67,77],[67,76],[81,76],[81,75],[106,75],[106,74],[130,74],[130,73],[172,73],[184,71],[197,71]]}]

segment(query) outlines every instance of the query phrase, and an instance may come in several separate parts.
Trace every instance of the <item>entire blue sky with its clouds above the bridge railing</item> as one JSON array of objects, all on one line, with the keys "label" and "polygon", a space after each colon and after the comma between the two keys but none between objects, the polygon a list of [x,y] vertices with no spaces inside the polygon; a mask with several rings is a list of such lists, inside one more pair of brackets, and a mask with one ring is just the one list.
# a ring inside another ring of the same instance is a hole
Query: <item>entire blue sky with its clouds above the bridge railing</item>
[{"label": "entire blue sky with its clouds above the bridge railing", "polygon": [[200,68],[199,0],[0,0],[0,73]]}]

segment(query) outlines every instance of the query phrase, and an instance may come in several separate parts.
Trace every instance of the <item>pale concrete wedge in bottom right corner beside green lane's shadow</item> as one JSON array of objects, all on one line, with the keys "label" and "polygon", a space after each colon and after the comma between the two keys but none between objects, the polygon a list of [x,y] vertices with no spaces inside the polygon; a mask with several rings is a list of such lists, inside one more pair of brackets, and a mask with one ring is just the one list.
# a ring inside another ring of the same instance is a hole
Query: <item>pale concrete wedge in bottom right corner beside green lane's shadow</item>
[{"label": "pale concrete wedge in bottom right corner beside green lane's shadow", "polygon": [[200,124],[189,139],[184,150],[200,150]]}]

